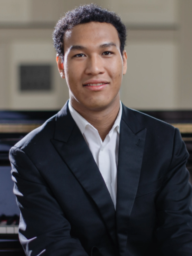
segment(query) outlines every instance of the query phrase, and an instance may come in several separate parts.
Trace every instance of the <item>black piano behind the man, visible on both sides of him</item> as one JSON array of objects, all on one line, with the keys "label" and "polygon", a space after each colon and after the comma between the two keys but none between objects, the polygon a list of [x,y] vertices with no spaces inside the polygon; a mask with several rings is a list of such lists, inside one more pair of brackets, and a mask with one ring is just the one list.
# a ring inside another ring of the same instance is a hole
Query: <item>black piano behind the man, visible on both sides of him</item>
[{"label": "black piano behind the man, visible on both sides of him", "polygon": [[[19,210],[13,195],[9,149],[57,111],[0,111],[0,255],[22,256],[18,240]],[[192,111],[142,111],[179,128],[190,157],[192,183]]]}]

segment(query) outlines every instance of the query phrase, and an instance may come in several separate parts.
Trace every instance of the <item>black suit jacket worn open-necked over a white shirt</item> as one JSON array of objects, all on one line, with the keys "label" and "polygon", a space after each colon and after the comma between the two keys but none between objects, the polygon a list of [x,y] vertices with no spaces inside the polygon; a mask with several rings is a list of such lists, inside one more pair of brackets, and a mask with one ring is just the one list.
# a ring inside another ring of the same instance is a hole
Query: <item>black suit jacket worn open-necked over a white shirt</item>
[{"label": "black suit jacket worn open-necked over a white shirt", "polygon": [[117,206],[63,109],[10,150],[26,255],[192,255],[189,154],[178,129],[123,106]]}]

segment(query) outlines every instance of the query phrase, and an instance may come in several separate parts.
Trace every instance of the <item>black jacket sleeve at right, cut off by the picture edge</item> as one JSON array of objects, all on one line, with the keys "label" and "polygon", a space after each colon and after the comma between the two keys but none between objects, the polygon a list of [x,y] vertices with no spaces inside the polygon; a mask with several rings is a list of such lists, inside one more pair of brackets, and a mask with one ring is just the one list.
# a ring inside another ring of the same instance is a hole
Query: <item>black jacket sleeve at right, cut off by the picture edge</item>
[{"label": "black jacket sleeve at right, cut off by the picture edge", "polygon": [[192,186],[186,161],[189,154],[175,129],[172,160],[156,200],[156,238],[161,255],[192,255]]}]

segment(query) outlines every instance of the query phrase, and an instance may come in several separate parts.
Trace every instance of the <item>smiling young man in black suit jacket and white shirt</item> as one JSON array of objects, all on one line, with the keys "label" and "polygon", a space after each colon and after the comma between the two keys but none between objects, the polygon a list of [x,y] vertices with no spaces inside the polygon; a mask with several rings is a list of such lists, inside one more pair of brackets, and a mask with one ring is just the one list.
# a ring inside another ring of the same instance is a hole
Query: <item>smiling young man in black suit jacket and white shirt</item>
[{"label": "smiling young man in black suit jacket and white shirt", "polygon": [[188,153],[171,125],[126,108],[126,28],[93,4],[58,21],[70,100],[10,151],[26,255],[191,256]]}]

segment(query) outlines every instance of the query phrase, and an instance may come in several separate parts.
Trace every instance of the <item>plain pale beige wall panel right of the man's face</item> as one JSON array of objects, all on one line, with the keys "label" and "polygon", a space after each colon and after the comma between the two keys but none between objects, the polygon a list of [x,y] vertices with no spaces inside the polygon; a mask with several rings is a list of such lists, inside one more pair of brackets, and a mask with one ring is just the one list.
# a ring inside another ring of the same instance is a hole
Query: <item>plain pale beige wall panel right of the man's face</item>
[{"label": "plain pale beige wall panel right of the man's face", "polygon": [[128,42],[128,70],[123,78],[121,100],[136,109],[177,108],[177,44]]}]

